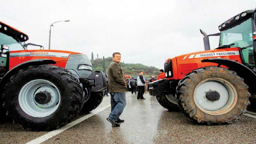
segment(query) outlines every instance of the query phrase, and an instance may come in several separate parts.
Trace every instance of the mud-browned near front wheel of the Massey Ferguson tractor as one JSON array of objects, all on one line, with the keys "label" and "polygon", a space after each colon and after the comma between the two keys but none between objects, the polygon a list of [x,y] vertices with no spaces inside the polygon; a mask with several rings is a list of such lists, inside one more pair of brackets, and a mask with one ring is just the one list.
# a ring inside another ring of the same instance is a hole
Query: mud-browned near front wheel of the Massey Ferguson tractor
[{"label": "mud-browned near front wheel of the Massey Ferguson tractor", "polygon": [[246,112],[249,97],[243,78],[222,67],[196,69],[177,86],[178,105],[183,113],[209,125],[239,119]]}]

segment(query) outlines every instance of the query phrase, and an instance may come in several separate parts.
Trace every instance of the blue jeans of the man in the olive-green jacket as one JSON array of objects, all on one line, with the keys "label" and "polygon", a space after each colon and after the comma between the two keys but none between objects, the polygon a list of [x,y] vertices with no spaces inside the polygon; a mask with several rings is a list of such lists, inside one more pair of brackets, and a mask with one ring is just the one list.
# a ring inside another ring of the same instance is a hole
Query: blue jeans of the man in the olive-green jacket
[{"label": "blue jeans of the man in the olive-green jacket", "polygon": [[124,107],[126,106],[125,92],[122,93],[110,93],[111,96],[111,112],[109,119],[118,121],[119,116],[122,114]]}]

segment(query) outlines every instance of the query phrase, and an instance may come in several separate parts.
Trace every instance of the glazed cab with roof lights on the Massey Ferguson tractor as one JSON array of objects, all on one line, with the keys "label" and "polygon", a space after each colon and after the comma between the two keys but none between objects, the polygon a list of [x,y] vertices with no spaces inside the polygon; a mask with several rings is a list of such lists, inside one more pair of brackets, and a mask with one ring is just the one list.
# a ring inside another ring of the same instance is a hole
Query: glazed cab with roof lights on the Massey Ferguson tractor
[{"label": "glazed cab with roof lights on the Massey Ferguson tractor", "polygon": [[238,47],[242,63],[251,69],[255,68],[254,13],[254,10],[242,12],[219,26],[219,48]]}]

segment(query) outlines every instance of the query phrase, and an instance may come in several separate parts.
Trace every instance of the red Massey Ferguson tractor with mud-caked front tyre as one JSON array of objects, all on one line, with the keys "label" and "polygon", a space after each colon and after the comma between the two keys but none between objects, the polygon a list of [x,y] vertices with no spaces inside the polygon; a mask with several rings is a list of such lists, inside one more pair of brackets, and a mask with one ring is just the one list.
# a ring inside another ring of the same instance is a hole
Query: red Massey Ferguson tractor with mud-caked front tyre
[{"label": "red Massey Ferguson tractor with mud-caked front tyre", "polygon": [[[198,123],[222,124],[239,119],[255,98],[256,9],[222,23],[220,33],[204,35],[205,51],[169,58],[166,79],[150,83],[150,94],[170,111],[182,110]],[[220,36],[210,50],[209,37]]]}]

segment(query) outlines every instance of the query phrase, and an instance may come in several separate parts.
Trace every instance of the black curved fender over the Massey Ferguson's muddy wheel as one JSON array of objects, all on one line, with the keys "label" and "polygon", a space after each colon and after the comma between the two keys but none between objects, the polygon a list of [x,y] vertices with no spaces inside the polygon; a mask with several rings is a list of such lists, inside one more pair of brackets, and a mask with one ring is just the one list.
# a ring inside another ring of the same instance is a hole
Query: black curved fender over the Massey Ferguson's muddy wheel
[{"label": "black curved fender over the Massey Ferguson's muddy wheel", "polygon": [[221,65],[228,67],[229,70],[236,72],[238,76],[244,79],[244,82],[249,86],[250,92],[256,92],[256,89],[254,88],[256,74],[247,66],[233,60],[222,58],[203,59],[201,62],[212,62],[219,64],[218,67]]}]

